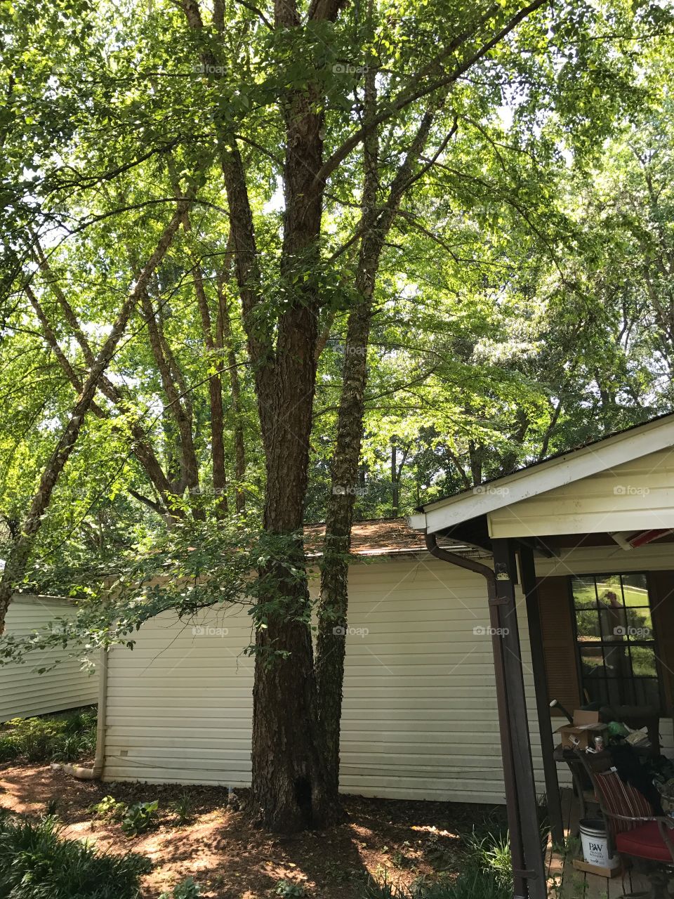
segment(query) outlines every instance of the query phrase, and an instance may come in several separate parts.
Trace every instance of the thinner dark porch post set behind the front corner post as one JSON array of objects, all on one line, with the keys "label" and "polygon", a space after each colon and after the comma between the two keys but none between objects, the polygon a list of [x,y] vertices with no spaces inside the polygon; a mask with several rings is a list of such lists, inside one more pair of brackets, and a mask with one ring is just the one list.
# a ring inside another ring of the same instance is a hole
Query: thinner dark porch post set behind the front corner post
[{"label": "thinner dark porch post set behind the front corner post", "polygon": [[563,845],[564,823],[562,800],[559,794],[557,765],[554,761],[554,739],[550,722],[550,705],[548,702],[547,674],[545,673],[545,653],[543,648],[543,629],[541,613],[538,605],[536,582],[536,565],[534,554],[526,544],[519,544],[519,574],[522,592],[527,600],[527,619],[529,626],[529,642],[531,644],[531,667],[534,671],[534,689],[536,691],[536,708],[538,713],[538,731],[541,735],[541,754],[545,773],[545,793],[547,795],[547,814],[550,818],[550,832],[553,842]]}]

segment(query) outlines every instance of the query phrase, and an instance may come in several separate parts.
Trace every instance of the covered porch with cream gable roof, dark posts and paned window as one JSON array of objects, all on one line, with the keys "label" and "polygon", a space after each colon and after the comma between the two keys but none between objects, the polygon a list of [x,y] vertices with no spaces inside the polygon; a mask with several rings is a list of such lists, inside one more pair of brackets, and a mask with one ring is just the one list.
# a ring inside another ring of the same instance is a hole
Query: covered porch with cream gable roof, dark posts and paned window
[{"label": "covered porch with cream gable roof, dark posts and paned window", "polygon": [[[674,714],[672,449],[669,414],[429,503],[410,519],[431,555],[486,581],[516,899],[545,897],[529,722],[537,719],[548,814],[562,844],[573,808],[565,828],[551,700],[562,700],[554,715],[588,707],[606,722],[622,720],[625,709],[669,721]],[[439,537],[481,547],[492,565],[448,552]],[[535,708],[527,703],[519,606]],[[634,888],[629,875],[576,877],[569,862],[560,873],[567,899]],[[548,895],[559,889],[553,884]]]}]

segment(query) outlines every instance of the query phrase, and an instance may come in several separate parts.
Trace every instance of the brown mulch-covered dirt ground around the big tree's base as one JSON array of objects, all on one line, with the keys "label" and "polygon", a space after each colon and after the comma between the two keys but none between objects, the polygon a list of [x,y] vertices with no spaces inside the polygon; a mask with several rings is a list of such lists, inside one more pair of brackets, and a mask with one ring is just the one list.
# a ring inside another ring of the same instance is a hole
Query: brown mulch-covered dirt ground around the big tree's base
[{"label": "brown mulch-covered dirt ground around the big tree's base", "polygon": [[[238,794],[243,804],[245,793]],[[180,826],[170,806],[185,794],[193,816]],[[119,823],[89,811],[104,796],[128,803],[158,799],[157,825],[137,837],[125,836]],[[305,886],[308,896],[356,899],[368,875],[381,877],[386,871],[389,881],[409,883],[421,875],[457,872],[460,834],[490,811],[487,806],[345,797],[345,823],[326,832],[279,837],[253,828],[244,811],[234,812],[226,802],[226,788],[102,784],[76,780],[49,765],[0,765],[0,806],[40,815],[55,804],[65,836],[152,859],[155,867],[144,878],[147,899],[185,877],[194,877],[208,899],[263,899],[276,895],[282,879]]]}]

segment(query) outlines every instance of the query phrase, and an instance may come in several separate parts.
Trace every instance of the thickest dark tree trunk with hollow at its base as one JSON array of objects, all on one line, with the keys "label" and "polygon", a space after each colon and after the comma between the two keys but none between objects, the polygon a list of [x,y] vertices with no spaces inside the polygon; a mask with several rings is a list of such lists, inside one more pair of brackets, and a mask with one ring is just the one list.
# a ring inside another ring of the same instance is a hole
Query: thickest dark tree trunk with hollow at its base
[{"label": "thickest dark tree trunk with hollow at its base", "polygon": [[[284,12],[291,14],[289,6],[281,8],[280,14]],[[289,307],[279,318],[273,395],[258,383],[259,401],[272,411],[262,421],[267,473],[264,529],[290,542],[279,561],[261,572],[262,607],[271,603],[277,608],[257,636],[253,803],[264,824],[284,832],[324,827],[336,819],[339,809],[326,790],[301,538],[315,389],[324,191],[315,177],[323,156],[323,115],[315,111],[316,105],[317,97],[301,93],[292,95],[285,109],[286,220],[280,277]],[[288,577],[293,569],[297,575]],[[270,656],[274,650],[283,655]]]}]

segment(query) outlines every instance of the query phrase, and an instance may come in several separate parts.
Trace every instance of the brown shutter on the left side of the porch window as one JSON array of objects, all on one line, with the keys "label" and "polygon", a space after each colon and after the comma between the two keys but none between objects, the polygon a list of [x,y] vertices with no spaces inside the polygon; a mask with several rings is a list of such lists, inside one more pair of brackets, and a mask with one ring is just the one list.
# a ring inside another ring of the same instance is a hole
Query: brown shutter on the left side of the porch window
[{"label": "brown shutter on the left side of the porch window", "polygon": [[[581,705],[576,663],[576,637],[567,577],[542,577],[537,581],[541,613],[543,654],[548,700],[558,699],[573,713]],[[562,712],[553,709],[554,716]]]}]

